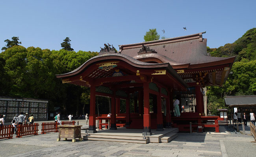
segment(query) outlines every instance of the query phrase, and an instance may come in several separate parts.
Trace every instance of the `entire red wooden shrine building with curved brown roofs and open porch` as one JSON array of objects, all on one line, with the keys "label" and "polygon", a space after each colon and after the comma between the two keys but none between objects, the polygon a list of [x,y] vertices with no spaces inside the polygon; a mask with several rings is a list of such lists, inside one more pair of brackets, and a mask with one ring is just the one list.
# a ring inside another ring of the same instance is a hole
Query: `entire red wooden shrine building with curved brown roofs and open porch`
[{"label": "entire red wooden shrine building with curved brown roofs and open porch", "polygon": [[[193,122],[194,127],[209,127],[203,122],[207,119],[216,122],[219,117],[205,115],[202,88],[206,85],[221,86],[235,57],[208,56],[203,33],[121,45],[118,52],[113,46],[104,44],[98,56],[74,71],[57,75],[57,78],[63,83],[90,87],[91,133],[96,132],[96,95],[111,97],[112,130],[117,129],[119,120],[125,121],[126,128],[143,128],[145,135],[151,135],[151,129],[161,131],[171,126],[189,131],[189,122]],[[136,95],[135,113],[130,112],[130,94]],[[150,95],[153,95],[152,108]],[[184,96],[193,95],[195,103],[191,106],[194,109],[181,113],[180,117],[172,117],[173,95],[180,102]],[[126,100],[126,113],[119,113],[120,99]],[[213,127],[219,131],[218,124]]]}]

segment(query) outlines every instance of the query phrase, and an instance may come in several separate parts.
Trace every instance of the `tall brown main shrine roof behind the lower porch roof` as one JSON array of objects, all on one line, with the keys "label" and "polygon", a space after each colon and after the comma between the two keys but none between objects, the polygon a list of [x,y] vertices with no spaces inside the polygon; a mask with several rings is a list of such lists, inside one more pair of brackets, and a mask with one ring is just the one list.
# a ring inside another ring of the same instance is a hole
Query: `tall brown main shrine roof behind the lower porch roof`
[{"label": "tall brown main shrine roof behind the lower porch roof", "polygon": [[[171,66],[204,64],[229,59],[231,59],[231,62],[232,60],[234,62],[235,57],[224,58],[208,56],[206,43],[207,39],[202,38],[202,33],[198,33],[183,37],[121,45],[120,52],[136,59],[157,57],[162,60],[162,62],[169,62]],[[151,53],[151,56],[149,55],[150,53],[138,55],[142,45],[149,46],[150,49],[154,49],[157,53]]]}]

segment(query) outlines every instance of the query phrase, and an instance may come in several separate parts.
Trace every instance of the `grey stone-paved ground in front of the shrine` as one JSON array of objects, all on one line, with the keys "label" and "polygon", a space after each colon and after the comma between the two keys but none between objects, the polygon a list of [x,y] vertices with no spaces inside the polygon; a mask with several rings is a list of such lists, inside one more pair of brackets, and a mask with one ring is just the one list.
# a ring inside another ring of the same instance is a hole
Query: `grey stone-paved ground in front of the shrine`
[{"label": "grey stone-paved ground in front of the shrine", "polygon": [[[83,131],[83,130],[82,130]],[[169,143],[57,142],[58,133],[0,140],[0,157],[253,157],[256,145],[250,135],[179,133]]]}]

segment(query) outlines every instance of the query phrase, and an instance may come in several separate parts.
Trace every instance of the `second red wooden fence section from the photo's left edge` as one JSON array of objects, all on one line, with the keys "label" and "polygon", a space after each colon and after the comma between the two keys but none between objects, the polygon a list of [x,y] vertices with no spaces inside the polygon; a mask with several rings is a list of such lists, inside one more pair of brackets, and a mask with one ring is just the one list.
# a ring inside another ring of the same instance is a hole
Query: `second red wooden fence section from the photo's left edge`
[{"label": "second red wooden fence section from the photo's left edge", "polygon": [[22,124],[17,126],[17,136],[22,137],[26,135],[38,135],[38,123]]}]

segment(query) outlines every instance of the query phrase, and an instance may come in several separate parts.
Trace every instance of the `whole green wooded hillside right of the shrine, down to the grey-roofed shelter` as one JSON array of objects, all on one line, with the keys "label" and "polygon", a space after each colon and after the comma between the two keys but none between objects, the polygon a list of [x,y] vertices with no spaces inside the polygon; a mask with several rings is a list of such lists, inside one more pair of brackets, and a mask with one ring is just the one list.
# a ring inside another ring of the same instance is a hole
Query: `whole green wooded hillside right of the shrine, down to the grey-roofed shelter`
[{"label": "whole green wooded hillside right of the shrine, down to the grey-roofed shelter", "polygon": [[218,108],[224,106],[227,95],[256,95],[256,28],[248,30],[232,44],[219,48],[207,47],[213,57],[232,57],[236,60],[223,87],[209,86],[208,110],[218,115]]}]

